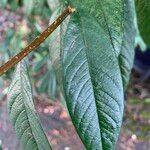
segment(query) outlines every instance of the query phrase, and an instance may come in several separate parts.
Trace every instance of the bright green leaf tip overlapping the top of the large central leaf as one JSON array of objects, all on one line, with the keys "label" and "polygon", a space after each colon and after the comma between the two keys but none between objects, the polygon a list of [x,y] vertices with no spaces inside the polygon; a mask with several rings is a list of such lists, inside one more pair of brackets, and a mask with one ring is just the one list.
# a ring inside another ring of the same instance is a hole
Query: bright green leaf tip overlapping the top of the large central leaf
[{"label": "bright green leaf tip overlapping the top of the large central leaf", "polygon": [[116,56],[119,55],[123,36],[124,0],[68,0],[69,4],[87,10],[109,35]]}]

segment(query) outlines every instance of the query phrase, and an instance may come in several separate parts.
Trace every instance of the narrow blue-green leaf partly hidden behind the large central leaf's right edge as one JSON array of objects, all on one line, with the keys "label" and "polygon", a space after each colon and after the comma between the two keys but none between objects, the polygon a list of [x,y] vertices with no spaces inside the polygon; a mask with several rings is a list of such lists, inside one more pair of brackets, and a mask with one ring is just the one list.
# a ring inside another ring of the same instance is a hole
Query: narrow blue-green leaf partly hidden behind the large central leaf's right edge
[{"label": "narrow blue-green leaf partly hidden behind the large central leaf's right edge", "polygon": [[119,55],[120,70],[123,80],[124,89],[130,78],[131,69],[134,60],[134,43],[135,43],[135,26],[134,11],[135,4],[133,0],[125,0],[124,5],[124,36],[122,49]]}]

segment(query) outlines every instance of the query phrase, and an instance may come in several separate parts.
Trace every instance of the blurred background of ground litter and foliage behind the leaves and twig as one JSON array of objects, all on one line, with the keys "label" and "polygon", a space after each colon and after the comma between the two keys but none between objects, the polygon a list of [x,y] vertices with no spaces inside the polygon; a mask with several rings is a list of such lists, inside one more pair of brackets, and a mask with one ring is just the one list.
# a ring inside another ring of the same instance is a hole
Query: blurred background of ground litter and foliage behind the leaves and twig
[{"label": "blurred background of ground litter and foliage behind the leaves and twig", "polygon": [[[59,6],[59,0],[0,0],[0,66],[48,26]],[[84,147],[70,121],[56,80],[51,51],[47,39],[28,56],[36,110],[54,150],[82,150]],[[135,51],[118,150],[150,150],[150,50],[141,51],[137,46]],[[21,149],[7,111],[6,93],[12,76],[13,69],[0,77],[0,146],[3,150]]]}]

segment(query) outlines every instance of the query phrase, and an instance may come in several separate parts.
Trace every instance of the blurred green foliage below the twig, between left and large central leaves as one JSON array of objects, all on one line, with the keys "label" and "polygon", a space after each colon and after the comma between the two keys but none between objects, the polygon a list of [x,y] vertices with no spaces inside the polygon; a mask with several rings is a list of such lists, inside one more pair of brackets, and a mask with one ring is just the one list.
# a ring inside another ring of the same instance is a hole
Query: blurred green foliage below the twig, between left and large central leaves
[{"label": "blurred green foliage below the twig, between left and large central leaves", "polygon": [[[45,51],[43,49],[45,48]],[[57,82],[55,71],[52,67],[49,51],[46,47],[39,49],[38,53],[34,54],[33,69],[32,74],[39,77],[35,79],[37,91],[40,93],[47,93],[51,99],[56,99],[57,97]],[[44,68],[42,70],[42,68]],[[45,71],[46,70],[46,71]],[[43,73],[44,72],[44,75]]]}]

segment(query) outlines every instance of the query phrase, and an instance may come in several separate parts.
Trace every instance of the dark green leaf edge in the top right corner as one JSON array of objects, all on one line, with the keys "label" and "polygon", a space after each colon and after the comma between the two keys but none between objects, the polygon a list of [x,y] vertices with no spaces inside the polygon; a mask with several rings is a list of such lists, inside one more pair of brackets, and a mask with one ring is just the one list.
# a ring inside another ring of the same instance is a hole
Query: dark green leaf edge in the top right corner
[{"label": "dark green leaf edge in the top right corner", "polygon": [[138,27],[144,42],[150,46],[150,0],[135,0]]}]

